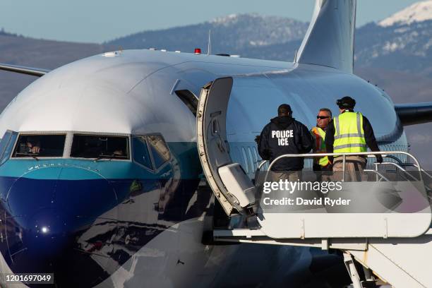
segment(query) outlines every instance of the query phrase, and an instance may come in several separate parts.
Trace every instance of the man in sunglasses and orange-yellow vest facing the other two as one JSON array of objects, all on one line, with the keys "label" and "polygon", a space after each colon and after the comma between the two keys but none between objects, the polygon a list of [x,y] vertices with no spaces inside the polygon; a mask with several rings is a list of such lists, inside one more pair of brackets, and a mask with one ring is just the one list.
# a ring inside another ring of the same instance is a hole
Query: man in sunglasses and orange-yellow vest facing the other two
[{"label": "man in sunglasses and orange-yellow vest facing the other two", "polygon": [[[313,152],[325,153],[325,131],[332,119],[332,112],[328,108],[321,108],[316,116],[316,126],[311,129],[313,138]],[[332,164],[328,157],[313,158],[313,171],[329,171],[332,169]]]}]

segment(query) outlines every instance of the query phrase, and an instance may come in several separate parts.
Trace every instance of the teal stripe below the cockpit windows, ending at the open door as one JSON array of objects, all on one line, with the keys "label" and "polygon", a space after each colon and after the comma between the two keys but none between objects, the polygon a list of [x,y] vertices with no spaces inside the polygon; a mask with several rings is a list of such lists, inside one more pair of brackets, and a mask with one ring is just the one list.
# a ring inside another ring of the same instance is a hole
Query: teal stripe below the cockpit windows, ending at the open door
[{"label": "teal stripe below the cockpit windows, ending at the open door", "polygon": [[[172,153],[172,160],[164,164],[157,171],[151,171],[132,161],[98,160],[92,159],[13,159],[6,161],[0,166],[0,176],[26,177],[30,179],[59,179],[58,173],[61,169],[61,179],[64,180],[90,180],[99,179],[159,179],[165,178],[165,173],[172,167],[170,164],[178,165],[181,179],[197,179],[202,173],[196,143],[172,142],[168,143]],[[59,169],[53,169],[53,168]],[[78,169],[70,169],[70,168]],[[51,169],[47,169],[51,168]],[[31,172],[31,173],[30,173]],[[92,172],[92,173],[88,173]]]}]

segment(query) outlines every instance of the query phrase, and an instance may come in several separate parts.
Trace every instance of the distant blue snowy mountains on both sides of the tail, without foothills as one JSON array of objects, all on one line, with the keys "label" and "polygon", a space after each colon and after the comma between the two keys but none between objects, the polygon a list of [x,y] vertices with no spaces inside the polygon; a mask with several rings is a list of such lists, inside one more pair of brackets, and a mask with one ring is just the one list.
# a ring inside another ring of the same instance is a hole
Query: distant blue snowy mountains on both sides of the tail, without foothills
[{"label": "distant blue snowy mountains on both sides of the tail, without foothills", "polygon": [[[426,17],[428,16],[428,17]],[[308,23],[275,16],[232,14],[196,25],[143,31],[105,44],[123,49],[207,51],[246,58],[292,61]],[[422,1],[380,23],[356,30],[356,66],[432,76],[432,1]]]}]

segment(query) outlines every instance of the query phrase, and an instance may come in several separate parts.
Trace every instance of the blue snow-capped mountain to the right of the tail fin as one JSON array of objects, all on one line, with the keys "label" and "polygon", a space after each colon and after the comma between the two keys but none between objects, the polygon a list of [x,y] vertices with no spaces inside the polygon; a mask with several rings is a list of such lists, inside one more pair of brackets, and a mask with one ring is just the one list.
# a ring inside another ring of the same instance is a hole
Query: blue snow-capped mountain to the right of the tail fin
[{"label": "blue snow-capped mountain to the right of the tail fin", "polygon": [[356,31],[356,65],[432,76],[432,0]]}]

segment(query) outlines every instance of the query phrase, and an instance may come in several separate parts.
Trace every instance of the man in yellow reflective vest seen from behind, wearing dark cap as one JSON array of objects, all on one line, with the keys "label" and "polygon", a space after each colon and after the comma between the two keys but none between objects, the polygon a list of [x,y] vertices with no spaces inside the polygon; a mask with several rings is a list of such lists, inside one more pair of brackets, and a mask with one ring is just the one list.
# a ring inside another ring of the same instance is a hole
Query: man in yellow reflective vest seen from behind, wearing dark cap
[{"label": "man in yellow reflective vest seen from behind, wearing dark cap", "polygon": [[[325,136],[327,152],[366,152],[367,147],[371,151],[379,151],[371,123],[360,112],[354,112],[356,101],[352,97],[345,96],[337,100],[336,104],[340,115],[335,117],[328,126]],[[343,171],[342,156],[337,156],[334,160],[332,158],[329,157],[330,162],[333,163],[333,172]],[[383,157],[376,155],[376,160],[381,163]],[[346,157],[345,171],[348,172],[351,181],[356,181],[365,167],[366,157]]]}]

